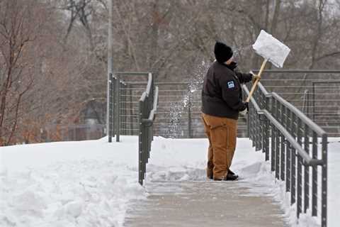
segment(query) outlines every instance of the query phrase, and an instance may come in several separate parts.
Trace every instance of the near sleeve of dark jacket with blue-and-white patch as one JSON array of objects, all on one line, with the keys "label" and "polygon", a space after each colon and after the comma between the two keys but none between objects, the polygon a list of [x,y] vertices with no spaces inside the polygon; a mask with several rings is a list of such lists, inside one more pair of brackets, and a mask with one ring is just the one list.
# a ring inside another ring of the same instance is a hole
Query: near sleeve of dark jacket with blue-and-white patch
[{"label": "near sleeve of dark jacket with blue-and-white patch", "polygon": [[225,80],[220,82],[222,88],[222,99],[226,104],[235,111],[243,111],[246,105],[239,97],[239,86],[234,79]]}]

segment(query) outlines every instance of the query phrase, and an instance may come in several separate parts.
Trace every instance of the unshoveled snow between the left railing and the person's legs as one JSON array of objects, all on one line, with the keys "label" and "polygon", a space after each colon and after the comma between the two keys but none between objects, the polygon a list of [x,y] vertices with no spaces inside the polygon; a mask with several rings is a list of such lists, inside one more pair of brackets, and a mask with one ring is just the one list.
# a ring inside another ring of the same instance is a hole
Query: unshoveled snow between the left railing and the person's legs
[{"label": "unshoveled snow between the left railing and the person's legs", "polygon": [[147,165],[147,182],[205,180],[207,140],[157,137]]}]

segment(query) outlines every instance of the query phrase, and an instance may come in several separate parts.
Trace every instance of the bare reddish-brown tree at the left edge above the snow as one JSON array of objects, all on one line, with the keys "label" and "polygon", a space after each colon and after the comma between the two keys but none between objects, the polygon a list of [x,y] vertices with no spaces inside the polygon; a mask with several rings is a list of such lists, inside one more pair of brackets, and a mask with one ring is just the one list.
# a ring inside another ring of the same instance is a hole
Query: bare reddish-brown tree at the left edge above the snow
[{"label": "bare reddish-brown tree at the left edge above the snow", "polygon": [[0,4],[0,145],[8,145],[18,128],[23,96],[33,84],[34,64],[28,53],[42,21],[35,17],[40,9],[35,1]]}]

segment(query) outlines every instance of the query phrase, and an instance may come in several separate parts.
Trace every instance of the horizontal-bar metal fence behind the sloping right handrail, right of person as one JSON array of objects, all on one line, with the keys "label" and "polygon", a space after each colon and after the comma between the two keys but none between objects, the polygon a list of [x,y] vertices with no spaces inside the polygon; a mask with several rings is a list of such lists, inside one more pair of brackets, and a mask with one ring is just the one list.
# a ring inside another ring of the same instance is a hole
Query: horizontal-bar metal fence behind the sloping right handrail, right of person
[{"label": "horizontal-bar metal fence behind the sloping right handrail, right of person", "polygon": [[[258,70],[254,70],[257,72]],[[300,109],[331,137],[340,136],[340,70],[264,70],[261,83]]]}]

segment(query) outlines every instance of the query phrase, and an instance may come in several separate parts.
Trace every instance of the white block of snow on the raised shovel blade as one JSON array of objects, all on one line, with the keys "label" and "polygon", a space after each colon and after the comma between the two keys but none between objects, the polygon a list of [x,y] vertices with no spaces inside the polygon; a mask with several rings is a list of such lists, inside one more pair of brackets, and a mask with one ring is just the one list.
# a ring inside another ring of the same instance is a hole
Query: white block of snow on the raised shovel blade
[{"label": "white block of snow on the raised shovel blade", "polygon": [[276,67],[283,67],[283,62],[290,52],[288,46],[281,43],[273,35],[261,30],[254,45],[254,50],[264,59],[273,63]]}]

